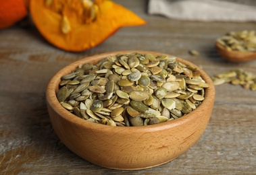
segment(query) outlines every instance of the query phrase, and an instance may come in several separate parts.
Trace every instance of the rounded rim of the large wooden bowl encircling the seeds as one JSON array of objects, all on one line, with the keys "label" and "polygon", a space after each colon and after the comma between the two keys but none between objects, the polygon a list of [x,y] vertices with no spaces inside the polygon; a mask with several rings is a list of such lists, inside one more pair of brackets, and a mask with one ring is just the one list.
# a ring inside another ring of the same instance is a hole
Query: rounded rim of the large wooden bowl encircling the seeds
[{"label": "rounded rim of the large wooden bowl encircling the seeds", "polygon": [[[190,112],[180,118],[177,118],[175,120],[170,120],[167,122],[161,122],[161,123],[155,124],[155,125],[147,125],[147,126],[139,126],[139,127],[113,127],[113,126],[101,125],[99,123],[86,121],[86,120],[72,114],[68,110],[64,110],[64,108],[61,106],[61,104],[57,100],[56,85],[57,86],[59,85],[61,76],[70,73],[70,71],[68,71],[67,69],[74,70],[76,67],[78,67],[78,65],[81,65],[82,63],[91,62],[95,58],[103,59],[109,55],[125,54],[125,53],[129,53],[129,52],[138,52],[138,53],[142,53],[142,54],[151,53],[153,55],[170,55],[170,54],[165,54],[165,53],[161,53],[161,52],[152,52],[152,51],[147,51],[147,50],[120,50],[120,51],[113,51],[113,52],[104,52],[99,55],[93,55],[90,57],[84,57],[83,59],[80,59],[78,61],[71,63],[70,65],[67,65],[66,67],[63,67],[62,69],[57,71],[57,73],[55,73],[55,75],[53,75],[53,77],[51,78],[51,80],[49,81],[49,83],[47,85],[47,90],[46,90],[47,103],[49,104],[49,106],[51,106],[51,108],[61,118],[68,120],[69,122],[72,122],[75,125],[79,125],[80,127],[86,127],[87,129],[93,129],[93,130],[104,130],[104,129],[105,130],[108,130],[108,129],[113,130],[114,129],[115,132],[130,131],[130,129],[132,129],[133,133],[134,132],[141,133],[141,132],[160,131],[160,130],[164,130],[164,129],[170,129],[172,127],[176,127],[176,126],[180,125],[181,123],[190,122],[190,120],[193,120],[194,114],[197,114],[197,112],[199,112],[199,111],[203,111],[204,108],[207,108],[207,106],[209,104],[214,102],[215,87],[214,87],[213,81],[211,80],[209,75],[207,75],[207,73],[205,73],[205,71],[203,71],[197,65],[194,65],[193,63],[190,63],[189,61],[186,61],[184,59],[180,59],[180,58],[176,57],[177,60],[180,61],[181,63],[184,63],[185,65],[193,65],[193,67],[196,67],[197,70],[200,71],[201,77],[209,84],[209,88],[206,88],[206,90],[205,90],[205,99],[203,100],[203,102],[195,110],[193,110],[192,112]],[[173,55],[170,55],[170,56],[173,56]],[[100,59],[97,59],[97,61],[99,61],[99,60]],[[95,63],[97,63],[97,61],[95,61]],[[53,117],[55,117],[55,116],[53,116]]]}]

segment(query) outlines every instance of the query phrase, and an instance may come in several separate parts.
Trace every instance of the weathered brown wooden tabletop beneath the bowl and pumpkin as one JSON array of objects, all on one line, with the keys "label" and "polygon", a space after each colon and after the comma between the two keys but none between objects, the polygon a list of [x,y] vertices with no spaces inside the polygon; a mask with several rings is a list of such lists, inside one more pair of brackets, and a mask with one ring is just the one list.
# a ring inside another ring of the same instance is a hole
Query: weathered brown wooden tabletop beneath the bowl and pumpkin
[{"label": "weathered brown wooden tabletop beneath the bowl and pumpkin", "polygon": [[[201,65],[210,76],[230,69],[256,74],[256,61],[228,63],[214,47],[217,37],[231,30],[255,30],[255,23],[170,20],[148,15],[146,0],[116,3],[143,17],[147,25],[122,28],[84,52],[51,46],[34,26],[0,30],[0,174],[256,174],[256,92],[236,85],[216,87],[213,113],[201,139],[176,160],[155,168],[101,168],[59,141],[47,113],[45,89],[54,73],[84,57],[151,50]],[[189,55],[190,49],[201,55]]]}]

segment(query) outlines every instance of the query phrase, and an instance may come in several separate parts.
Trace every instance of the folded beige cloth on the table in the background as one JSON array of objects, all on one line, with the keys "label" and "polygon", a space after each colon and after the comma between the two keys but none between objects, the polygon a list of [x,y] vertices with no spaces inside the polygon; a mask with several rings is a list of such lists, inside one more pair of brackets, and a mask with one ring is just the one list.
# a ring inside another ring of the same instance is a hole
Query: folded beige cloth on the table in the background
[{"label": "folded beige cloth on the table in the background", "polygon": [[148,12],[176,20],[256,22],[256,6],[216,0],[150,0]]}]

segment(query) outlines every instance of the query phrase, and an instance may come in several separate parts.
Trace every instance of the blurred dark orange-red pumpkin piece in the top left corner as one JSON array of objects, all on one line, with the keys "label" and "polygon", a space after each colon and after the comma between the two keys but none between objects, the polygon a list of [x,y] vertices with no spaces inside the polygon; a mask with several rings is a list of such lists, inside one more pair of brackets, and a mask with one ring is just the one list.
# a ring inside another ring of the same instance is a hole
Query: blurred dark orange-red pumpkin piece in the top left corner
[{"label": "blurred dark orange-red pumpkin piece in the top left corner", "polygon": [[22,0],[0,2],[0,29],[9,28],[28,14]]}]

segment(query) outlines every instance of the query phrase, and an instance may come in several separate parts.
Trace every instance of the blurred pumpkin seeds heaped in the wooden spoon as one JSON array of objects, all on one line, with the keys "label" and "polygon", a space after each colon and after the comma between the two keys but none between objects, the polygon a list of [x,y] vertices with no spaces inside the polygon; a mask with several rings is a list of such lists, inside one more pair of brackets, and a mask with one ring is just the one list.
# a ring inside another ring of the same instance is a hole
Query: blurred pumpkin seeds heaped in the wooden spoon
[{"label": "blurred pumpkin seeds heaped in the wooden spoon", "polygon": [[256,31],[243,30],[242,32],[229,32],[217,38],[217,42],[228,50],[242,52],[256,52]]}]

